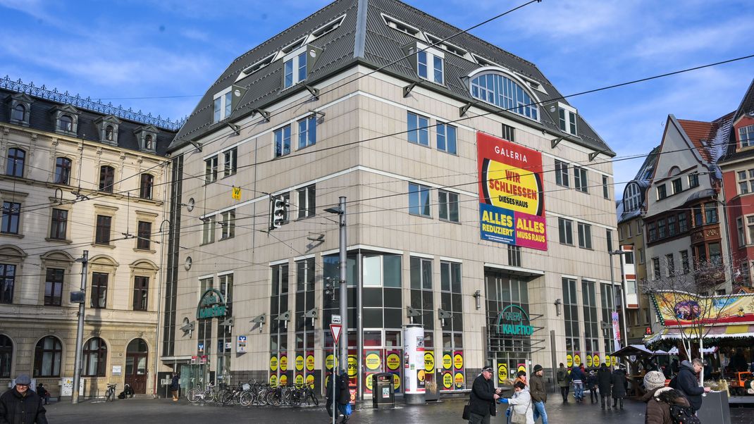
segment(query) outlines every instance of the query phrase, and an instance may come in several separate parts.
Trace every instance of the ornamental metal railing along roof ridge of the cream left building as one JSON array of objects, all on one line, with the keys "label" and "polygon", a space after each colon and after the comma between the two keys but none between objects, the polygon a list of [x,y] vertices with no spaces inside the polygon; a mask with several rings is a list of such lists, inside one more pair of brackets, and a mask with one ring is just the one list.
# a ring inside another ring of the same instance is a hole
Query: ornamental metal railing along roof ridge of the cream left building
[{"label": "ornamental metal railing along roof ridge of the cream left building", "polygon": [[60,93],[57,88],[49,90],[44,85],[36,87],[34,82],[26,84],[23,83],[20,78],[17,81],[13,81],[11,78],[8,78],[8,75],[5,75],[5,78],[0,78],[0,88],[15,91],[17,93],[26,93],[29,96],[35,96],[40,99],[48,99],[53,102],[73,105],[77,108],[86,109],[88,111],[94,111],[101,114],[112,114],[127,120],[135,120],[141,124],[152,124],[155,127],[163,128],[164,130],[177,131],[186,121],[186,117],[181,120],[170,120],[168,118],[163,118],[160,115],[155,117],[152,116],[151,113],[143,114],[141,110],[134,111],[133,108],[125,109],[121,105],[115,106],[112,105],[112,102],[105,104],[100,99],[93,100],[90,97],[84,99],[78,94],[72,96],[67,90],[65,93]]}]

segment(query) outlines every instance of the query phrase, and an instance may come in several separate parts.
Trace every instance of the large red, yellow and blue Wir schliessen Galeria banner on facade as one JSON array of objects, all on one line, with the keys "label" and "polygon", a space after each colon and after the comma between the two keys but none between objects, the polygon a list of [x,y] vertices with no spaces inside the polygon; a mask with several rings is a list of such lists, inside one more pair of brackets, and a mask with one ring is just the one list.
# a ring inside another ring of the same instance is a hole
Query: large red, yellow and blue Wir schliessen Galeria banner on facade
[{"label": "large red, yellow and blue Wir schliessen Galeria banner on facade", "polygon": [[542,155],[477,133],[483,240],[547,250]]}]

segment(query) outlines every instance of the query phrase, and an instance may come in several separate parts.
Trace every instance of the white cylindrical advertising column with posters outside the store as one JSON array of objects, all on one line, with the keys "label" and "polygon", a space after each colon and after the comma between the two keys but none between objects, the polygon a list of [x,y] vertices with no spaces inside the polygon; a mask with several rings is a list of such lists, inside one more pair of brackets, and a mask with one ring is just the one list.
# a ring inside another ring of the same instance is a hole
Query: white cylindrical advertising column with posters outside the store
[{"label": "white cylindrical advertising column with posters outside the store", "polygon": [[403,387],[406,404],[425,403],[424,328],[418,324],[403,327]]}]

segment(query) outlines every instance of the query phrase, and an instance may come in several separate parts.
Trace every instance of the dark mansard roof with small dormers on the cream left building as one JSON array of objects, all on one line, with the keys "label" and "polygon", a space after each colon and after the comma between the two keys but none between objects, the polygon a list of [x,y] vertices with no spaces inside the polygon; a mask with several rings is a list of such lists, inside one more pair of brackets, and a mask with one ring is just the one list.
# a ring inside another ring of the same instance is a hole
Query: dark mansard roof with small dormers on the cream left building
[{"label": "dark mansard roof with small dormers on the cream left building", "polygon": [[[11,122],[11,108],[8,99],[17,93],[19,92],[0,88],[0,102],[2,102],[0,103],[2,104],[2,107],[0,107],[0,122]],[[54,133],[55,123],[50,111],[56,106],[66,105],[67,103],[54,102],[51,99],[45,99],[30,93],[26,93],[26,95],[33,100],[31,114],[29,115],[29,128]],[[76,137],[90,142],[100,142],[99,132],[94,121],[97,118],[108,116],[108,114],[74,107],[78,110],[78,132]],[[121,124],[118,124],[118,147],[139,151],[139,142],[133,130],[136,130],[138,127],[146,127],[150,124],[128,120],[124,117],[118,117],[118,119],[121,121]],[[166,156],[168,145],[170,145],[176,132],[159,127],[155,128],[158,130],[158,133],[157,147],[154,154]]]}]

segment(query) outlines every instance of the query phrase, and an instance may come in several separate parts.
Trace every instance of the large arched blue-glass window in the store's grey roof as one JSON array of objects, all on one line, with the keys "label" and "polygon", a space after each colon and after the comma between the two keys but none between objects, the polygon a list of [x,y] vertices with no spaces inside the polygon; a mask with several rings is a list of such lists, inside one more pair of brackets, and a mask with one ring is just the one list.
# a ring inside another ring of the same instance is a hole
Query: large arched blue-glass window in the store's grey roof
[{"label": "large arched blue-glass window in the store's grey roof", "polygon": [[490,103],[506,111],[539,120],[538,99],[529,94],[522,84],[494,69],[483,69],[471,76],[470,93],[474,99]]}]

